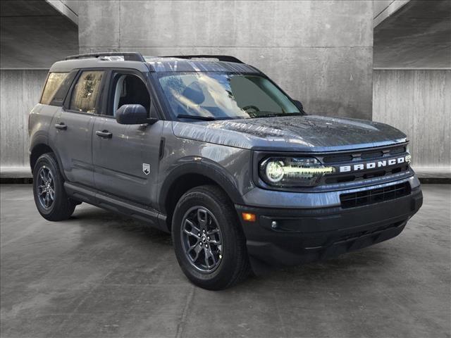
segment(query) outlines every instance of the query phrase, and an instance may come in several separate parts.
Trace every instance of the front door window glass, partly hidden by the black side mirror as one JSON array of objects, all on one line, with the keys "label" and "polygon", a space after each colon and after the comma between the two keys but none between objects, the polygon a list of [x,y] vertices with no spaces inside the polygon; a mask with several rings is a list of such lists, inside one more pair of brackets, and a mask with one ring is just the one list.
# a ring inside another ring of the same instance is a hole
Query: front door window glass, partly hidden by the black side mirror
[{"label": "front door window glass, partly hidden by the black side mirror", "polygon": [[140,104],[150,111],[150,95],[140,77],[133,74],[116,73],[111,87],[111,104],[108,115],[116,117],[116,111],[124,104]]}]

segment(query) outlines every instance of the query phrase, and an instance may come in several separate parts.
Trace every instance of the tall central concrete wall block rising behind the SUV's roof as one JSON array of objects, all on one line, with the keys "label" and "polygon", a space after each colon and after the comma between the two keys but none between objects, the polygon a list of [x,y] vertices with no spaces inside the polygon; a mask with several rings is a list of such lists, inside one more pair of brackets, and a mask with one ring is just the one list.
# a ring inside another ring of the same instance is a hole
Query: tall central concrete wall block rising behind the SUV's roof
[{"label": "tall central concrete wall block rising behind the SUV's roof", "polygon": [[230,54],[309,113],[371,119],[372,1],[83,1],[80,52]]}]

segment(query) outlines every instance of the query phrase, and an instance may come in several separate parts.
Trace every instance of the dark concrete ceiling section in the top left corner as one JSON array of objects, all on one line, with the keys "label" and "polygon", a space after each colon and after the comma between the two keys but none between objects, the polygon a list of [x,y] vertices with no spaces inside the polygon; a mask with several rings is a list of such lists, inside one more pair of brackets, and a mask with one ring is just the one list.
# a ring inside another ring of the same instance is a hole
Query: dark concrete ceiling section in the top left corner
[{"label": "dark concrete ceiling section in the top left corner", "polygon": [[48,69],[78,52],[77,26],[46,1],[0,1],[0,67]]}]

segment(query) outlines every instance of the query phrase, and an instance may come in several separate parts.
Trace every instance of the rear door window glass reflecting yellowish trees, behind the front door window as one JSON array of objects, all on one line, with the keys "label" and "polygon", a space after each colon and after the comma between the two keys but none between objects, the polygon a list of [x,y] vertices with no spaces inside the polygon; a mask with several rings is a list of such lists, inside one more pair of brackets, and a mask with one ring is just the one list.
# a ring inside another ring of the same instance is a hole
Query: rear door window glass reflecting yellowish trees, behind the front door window
[{"label": "rear door window glass reflecting yellowish trees, behind the front door window", "polygon": [[96,101],[100,92],[101,78],[104,72],[100,70],[86,70],[78,78],[77,84],[70,98],[69,109],[85,113],[96,112]]}]

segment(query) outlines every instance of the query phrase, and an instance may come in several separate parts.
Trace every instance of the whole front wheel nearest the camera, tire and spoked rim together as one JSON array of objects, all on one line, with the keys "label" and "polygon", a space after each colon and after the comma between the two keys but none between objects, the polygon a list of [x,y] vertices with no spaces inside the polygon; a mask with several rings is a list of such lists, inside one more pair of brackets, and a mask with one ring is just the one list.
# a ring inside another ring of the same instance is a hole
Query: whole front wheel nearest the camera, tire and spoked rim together
[{"label": "whole front wheel nearest the camera, tire and spoked rim together", "polygon": [[180,198],[172,238],[180,268],[198,287],[226,289],[249,275],[246,239],[237,213],[214,185],[196,187]]}]

